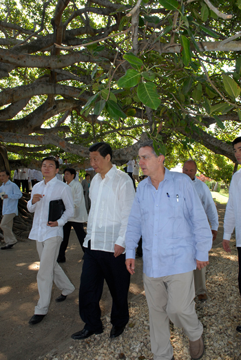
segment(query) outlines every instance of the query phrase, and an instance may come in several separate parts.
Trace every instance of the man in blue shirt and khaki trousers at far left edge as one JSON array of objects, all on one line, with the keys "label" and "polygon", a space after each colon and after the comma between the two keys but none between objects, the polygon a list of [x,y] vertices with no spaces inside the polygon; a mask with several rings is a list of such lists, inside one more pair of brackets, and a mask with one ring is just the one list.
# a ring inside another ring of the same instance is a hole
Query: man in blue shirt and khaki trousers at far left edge
[{"label": "man in blue shirt and khaki trousers at far left edge", "polygon": [[1,196],[3,199],[3,218],[1,219],[0,227],[3,231],[6,246],[2,246],[1,250],[8,250],[17,243],[17,239],[12,232],[13,219],[18,215],[18,202],[22,197],[19,187],[14,182],[9,180],[10,173],[7,170],[0,171],[0,193],[5,193]]}]

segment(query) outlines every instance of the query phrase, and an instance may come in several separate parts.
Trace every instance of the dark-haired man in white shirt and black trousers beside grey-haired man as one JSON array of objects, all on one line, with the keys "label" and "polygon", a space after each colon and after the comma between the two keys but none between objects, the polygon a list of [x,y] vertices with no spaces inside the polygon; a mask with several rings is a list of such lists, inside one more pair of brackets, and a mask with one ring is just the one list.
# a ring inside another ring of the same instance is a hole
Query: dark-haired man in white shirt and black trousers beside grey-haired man
[{"label": "dark-haired man in white shirt and black trousers beside grey-haired man", "polygon": [[130,276],[125,268],[124,252],[125,231],[135,191],[131,178],[112,165],[109,144],[97,142],[89,150],[90,164],[96,176],[90,185],[92,205],[79,289],[79,312],[85,326],[72,335],[75,340],[103,332],[99,301],[104,279],[112,295],[110,337],[121,335],[129,321],[127,295]]}]

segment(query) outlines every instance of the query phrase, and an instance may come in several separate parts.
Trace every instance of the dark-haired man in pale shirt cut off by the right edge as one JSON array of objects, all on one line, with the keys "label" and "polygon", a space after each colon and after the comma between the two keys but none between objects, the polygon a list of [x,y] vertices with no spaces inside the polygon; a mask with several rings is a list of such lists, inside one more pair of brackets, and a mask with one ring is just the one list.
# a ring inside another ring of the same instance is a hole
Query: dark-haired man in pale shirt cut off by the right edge
[{"label": "dark-haired man in pale shirt cut off by the right edge", "polygon": [[[232,142],[234,156],[241,165],[241,136]],[[241,169],[233,174],[229,187],[229,201],[224,215],[224,234],[222,246],[227,253],[231,253],[229,241],[235,227],[236,246],[238,250],[238,286],[241,295]],[[236,330],[241,332],[241,326]]]}]

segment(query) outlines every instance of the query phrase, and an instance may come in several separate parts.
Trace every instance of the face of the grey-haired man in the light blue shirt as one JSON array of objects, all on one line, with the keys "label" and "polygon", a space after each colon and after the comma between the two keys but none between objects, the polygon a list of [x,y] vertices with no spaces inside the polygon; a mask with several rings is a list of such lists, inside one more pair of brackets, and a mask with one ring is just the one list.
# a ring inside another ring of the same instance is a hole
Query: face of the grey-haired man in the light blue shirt
[{"label": "face of the grey-haired man in the light blue shirt", "polygon": [[141,147],[138,154],[139,165],[143,174],[150,177],[155,176],[160,168],[160,156],[156,157],[149,146]]}]

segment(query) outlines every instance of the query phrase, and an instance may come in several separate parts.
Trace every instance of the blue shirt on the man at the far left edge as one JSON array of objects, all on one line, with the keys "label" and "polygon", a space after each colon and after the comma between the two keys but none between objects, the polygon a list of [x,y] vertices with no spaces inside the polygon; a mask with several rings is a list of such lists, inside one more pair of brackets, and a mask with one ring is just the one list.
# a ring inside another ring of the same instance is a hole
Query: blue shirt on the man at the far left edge
[{"label": "blue shirt on the man at the far left edge", "polygon": [[16,214],[18,215],[18,202],[19,199],[23,196],[19,187],[14,184],[14,182],[8,180],[6,184],[1,185],[0,193],[6,193],[8,195],[7,199],[3,200],[3,209],[2,214]]}]

